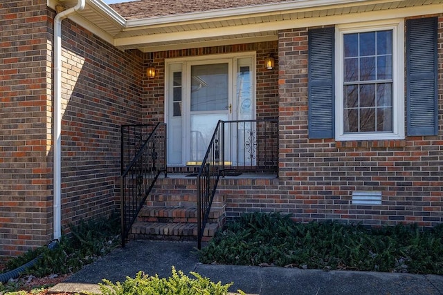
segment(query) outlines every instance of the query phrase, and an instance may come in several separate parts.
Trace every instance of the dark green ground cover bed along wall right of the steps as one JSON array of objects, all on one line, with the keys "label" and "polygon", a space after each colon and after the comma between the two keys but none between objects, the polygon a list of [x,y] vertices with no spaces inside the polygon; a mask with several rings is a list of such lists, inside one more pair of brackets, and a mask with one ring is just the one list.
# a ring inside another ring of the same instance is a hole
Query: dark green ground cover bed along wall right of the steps
[{"label": "dark green ground cover bed along wall right of the steps", "polygon": [[368,228],[247,213],[199,251],[201,263],[443,274],[443,225]]}]

